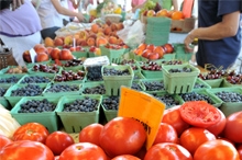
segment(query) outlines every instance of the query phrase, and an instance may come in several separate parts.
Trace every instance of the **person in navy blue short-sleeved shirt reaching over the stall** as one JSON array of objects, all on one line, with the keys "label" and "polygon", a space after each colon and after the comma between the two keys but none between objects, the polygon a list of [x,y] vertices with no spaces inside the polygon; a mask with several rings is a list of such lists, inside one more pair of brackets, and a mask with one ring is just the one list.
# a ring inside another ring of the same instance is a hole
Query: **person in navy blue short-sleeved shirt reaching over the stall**
[{"label": "person in navy blue short-sleeved shirt reaching over the stall", "polygon": [[191,52],[190,44],[198,38],[198,66],[232,67],[241,50],[241,3],[239,0],[198,0],[198,27],[184,39],[186,49]]}]

